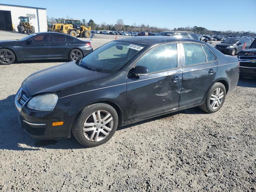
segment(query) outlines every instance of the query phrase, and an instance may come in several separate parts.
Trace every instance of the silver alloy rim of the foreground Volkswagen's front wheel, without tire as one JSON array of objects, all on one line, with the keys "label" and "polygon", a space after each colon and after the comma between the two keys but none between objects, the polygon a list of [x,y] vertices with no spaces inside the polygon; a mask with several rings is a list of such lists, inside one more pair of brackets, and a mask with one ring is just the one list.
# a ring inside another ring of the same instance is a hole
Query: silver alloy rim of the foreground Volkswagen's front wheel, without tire
[{"label": "silver alloy rim of the foreground Volkswagen's front wheel, without tire", "polygon": [[110,134],[114,120],[110,112],[97,110],[86,118],[83,126],[84,137],[92,142],[103,140]]}]

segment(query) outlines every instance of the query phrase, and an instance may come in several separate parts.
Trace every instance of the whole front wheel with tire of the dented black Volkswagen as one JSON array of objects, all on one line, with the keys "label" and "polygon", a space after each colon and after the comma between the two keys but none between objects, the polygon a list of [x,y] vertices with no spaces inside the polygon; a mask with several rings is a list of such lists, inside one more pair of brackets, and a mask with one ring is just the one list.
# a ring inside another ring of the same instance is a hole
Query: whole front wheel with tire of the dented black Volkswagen
[{"label": "whole front wheel with tire of the dented black Volkswagen", "polygon": [[96,103],[82,110],[72,126],[72,133],[80,144],[96,147],[110,140],[117,126],[116,110],[106,103]]}]

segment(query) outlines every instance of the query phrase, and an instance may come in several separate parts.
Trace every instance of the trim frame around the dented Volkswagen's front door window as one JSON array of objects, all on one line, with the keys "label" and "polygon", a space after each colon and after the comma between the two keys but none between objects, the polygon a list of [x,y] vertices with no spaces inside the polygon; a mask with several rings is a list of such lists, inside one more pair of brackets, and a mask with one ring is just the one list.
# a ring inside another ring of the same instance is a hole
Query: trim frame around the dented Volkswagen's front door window
[{"label": "trim frame around the dented Volkswagen's front door window", "polygon": [[152,46],[150,49],[148,49],[146,52],[144,52],[142,55],[140,55],[136,61],[134,61],[134,63],[132,64],[132,66],[129,68],[128,72],[127,72],[127,75],[126,75],[126,78],[128,78],[128,74],[130,72],[130,70],[132,68],[134,68],[137,64],[137,62],[144,56],[146,55],[148,52],[150,52],[152,49],[158,47],[158,46],[162,46],[162,45],[168,45],[168,44],[176,44],[177,45],[177,56],[178,56],[178,59],[177,59],[177,68],[173,68],[173,69],[166,69],[166,70],[161,70],[161,71],[156,71],[156,72],[151,72],[151,73],[148,73],[149,74],[155,74],[155,73],[160,73],[160,72],[165,72],[165,71],[171,71],[171,70],[176,70],[176,69],[180,69],[182,68],[181,66],[181,52],[180,52],[180,45],[178,42],[167,42],[167,43],[162,43],[162,44],[157,44],[157,45],[154,45]]}]

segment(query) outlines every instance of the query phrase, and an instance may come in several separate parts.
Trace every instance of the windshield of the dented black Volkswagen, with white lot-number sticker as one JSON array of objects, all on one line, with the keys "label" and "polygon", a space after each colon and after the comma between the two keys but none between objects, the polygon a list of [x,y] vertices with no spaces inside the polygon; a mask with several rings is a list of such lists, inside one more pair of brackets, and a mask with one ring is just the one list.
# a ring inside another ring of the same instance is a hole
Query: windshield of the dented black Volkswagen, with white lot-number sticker
[{"label": "windshield of the dented black Volkswagen, with white lot-number sticker", "polygon": [[116,72],[144,47],[136,43],[112,41],[85,56],[78,65],[98,72]]}]

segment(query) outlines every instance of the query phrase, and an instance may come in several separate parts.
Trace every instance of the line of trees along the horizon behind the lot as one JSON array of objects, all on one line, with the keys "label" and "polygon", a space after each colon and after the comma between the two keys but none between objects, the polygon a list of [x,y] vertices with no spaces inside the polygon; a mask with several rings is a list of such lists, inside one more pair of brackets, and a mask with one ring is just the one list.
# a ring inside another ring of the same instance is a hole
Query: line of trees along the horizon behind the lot
[{"label": "line of trees along the horizon behind the lot", "polygon": [[[63,18],[54,18],[54,17],[47,17],[48,22],[56,23],[58,20],[61,20]],[[66,16],[66,19],[73,19],[69,16]],[[106,24],[106,22],[102,22],[101,24],[96,24],[94,20],[90,19],[88,22],[86,22],[85,19],[81,20],[82,26],[91,26],[92,30],[109,30],[109,31],[127,31],[127,32],[162,32],[162,31],[168,31],[171,30],[169,28],[160,28],[156,26],[149,26],[145,24],[136,24],[133,25],[126,25],[124,24],[124,20],[118,19],[116,21],[116,24]],[[172,29],[173,31],[190,31],[194,32],[196,34],[208,34],[208,35],[232,35],[232,36],[256,36],[255,32],[251,31],[216,31],[216,30],[208,30],[204,27],[179,27]]]}]

